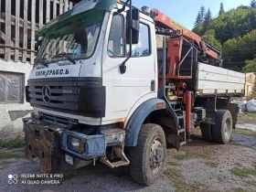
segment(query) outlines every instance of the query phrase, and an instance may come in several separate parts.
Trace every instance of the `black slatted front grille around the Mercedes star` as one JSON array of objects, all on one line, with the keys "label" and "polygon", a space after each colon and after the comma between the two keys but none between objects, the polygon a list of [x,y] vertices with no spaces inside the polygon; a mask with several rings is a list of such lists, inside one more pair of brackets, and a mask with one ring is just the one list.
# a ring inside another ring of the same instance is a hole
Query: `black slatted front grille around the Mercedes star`
[{"label": "black slatted front grille around the Mercedes star", "polygon": [[[28,80],[27,97],[33,106],[66,110],[77,113],[80,88],[101,85],[101,78],[52,78]],[[43,89],[48,86],[50,101],[43,100]]]}]

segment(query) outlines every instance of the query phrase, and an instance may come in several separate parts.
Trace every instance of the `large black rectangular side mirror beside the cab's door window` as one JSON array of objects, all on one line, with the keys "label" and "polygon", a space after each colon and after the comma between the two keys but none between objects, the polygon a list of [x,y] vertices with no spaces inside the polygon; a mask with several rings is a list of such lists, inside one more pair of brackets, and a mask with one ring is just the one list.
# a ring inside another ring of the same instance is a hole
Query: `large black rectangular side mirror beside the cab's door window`
[{"label": "large black rectangular side mirror beside the cab's door window", "polygon": [[[131,19],[132,17],[132,19]],[[140,11],[139,9],[129,9],[126,15],[126,44],[138,44],[140,35]],[[132,29],[132,30],[131,30]],[[131,36],[132,32],[132,36]],[[132,39],[131,39],[132,37]]]}]

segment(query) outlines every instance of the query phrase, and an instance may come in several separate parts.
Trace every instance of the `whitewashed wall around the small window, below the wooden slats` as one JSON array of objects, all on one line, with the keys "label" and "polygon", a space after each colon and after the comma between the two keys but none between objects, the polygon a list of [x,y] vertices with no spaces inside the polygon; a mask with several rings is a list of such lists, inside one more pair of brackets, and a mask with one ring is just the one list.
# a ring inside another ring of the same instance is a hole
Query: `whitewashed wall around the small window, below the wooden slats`
[{"label": "whitewashed wall around the small window, below the wooden slats", "polygon": [[[25,86],[27,85],[27,79],[32,67],[32,65],[27,63],[13,61],[6,62],[5,60],[0,59],[0,71],[24,73]],[[24,100],[25,99],[24,96]],[[24,104],[0,103],[0,139],[15,138],[17,135],[23,135],[22,118],[29,116],[29,112],[32,110],[33,108],[26,101],[24,101]]]}]

